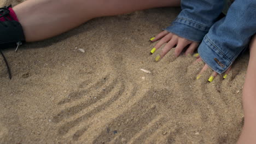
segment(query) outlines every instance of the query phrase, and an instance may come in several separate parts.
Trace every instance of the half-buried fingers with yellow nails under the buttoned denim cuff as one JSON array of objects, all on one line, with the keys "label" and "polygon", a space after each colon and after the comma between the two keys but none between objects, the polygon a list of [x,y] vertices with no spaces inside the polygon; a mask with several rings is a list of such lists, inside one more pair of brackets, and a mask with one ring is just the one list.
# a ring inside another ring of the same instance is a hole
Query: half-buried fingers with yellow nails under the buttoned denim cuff
[{"label": "half-buried fingers with yellow nails under the buttoned denim cuff", "polygon": [[[202,61],[202,59],[200,58],[200,56],[199,56],[198,53],[196,53],[196,54],[194,55],[194,57],[197,58],[197,59],[196,59],[196,62]],[[201,77],[201,75],[203,74],[203,72],[206,71],[208,68],[209,68],[208,65],[205,64],[205,66],[202,68],[202,70],[200,71],[200,73],[196,76],[196,80],[199,80],[200,77]],[[225,72],[224,75],[222,76],[223,79],[226,79],[226,78],[228,77],[228,74],[229,74],[230,69],[231,69],[231,67],[230,67],[228,70],[226,70],[226,72]],[[218,75],[218,73],[217,73],[216,71],[214,71],[214,72],[211,74],[211,76],[209,76],[208,82],[213,82],[214,78],[215,78],[217,75]]]}]

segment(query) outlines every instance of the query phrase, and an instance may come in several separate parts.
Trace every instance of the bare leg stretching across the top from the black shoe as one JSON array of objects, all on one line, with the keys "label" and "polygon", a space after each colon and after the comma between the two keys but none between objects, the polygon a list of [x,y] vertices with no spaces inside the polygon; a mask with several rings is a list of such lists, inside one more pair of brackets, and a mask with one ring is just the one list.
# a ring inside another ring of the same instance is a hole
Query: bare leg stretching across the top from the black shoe
[{"label": "bare leg stretching across the top from the black shoe", "polygon": [[28,0],[14,11],[26,41],[61,34],[100,16],[118,15],[156,7],[178,6],[180,0]]}]

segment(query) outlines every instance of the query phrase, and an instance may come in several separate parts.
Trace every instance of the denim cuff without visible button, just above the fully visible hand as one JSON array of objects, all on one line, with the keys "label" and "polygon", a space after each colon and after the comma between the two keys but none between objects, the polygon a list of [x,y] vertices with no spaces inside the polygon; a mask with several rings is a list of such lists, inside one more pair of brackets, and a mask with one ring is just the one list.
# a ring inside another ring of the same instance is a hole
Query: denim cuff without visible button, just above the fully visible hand
[{"label": "denim cuff without visible button, just above the fully visible hand", "polygon": [[178,17],[171,26],[164,30],[177,34],[179,37],[200,43],[210,27],[201,25],[189,19]]}]

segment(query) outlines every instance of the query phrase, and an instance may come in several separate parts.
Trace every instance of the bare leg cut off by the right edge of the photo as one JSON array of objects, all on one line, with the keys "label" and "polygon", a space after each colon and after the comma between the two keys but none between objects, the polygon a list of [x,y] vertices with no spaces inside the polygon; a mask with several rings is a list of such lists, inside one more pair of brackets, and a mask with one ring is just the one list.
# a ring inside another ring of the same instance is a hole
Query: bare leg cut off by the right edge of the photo
[{"label": "bare leg cut off by the right edge of the photo", "polygon": [[256,143],[256,35],[250,46],[250,59],[247,69],[245,85],[243,86],[243,111],[245,125],[238,143]]}]

